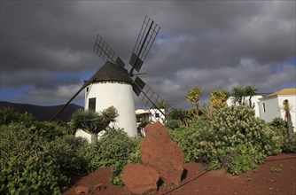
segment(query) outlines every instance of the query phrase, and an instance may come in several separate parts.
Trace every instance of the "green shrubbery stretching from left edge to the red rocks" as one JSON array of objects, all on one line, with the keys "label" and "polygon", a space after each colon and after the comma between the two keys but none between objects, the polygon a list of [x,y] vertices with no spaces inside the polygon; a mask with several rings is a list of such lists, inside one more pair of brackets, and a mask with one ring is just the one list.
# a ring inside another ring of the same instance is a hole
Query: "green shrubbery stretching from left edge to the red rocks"
[{"label": "green shrubbery stretching from left edge to the red rocks", "polygon": [[74,136],[72,126],[1,108],[0,194],[61,194],[71,177],[99,167],[111,167],[111,181],[122,185],[123,167],[140,161],[140,140],[122,129],[106,129],[89,144]]}]

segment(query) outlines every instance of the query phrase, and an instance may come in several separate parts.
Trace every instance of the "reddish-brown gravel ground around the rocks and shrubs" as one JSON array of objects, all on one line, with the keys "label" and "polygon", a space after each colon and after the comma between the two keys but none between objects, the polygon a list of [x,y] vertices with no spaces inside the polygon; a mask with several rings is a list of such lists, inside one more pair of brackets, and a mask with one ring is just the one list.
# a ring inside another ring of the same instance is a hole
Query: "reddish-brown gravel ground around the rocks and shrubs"
[{"label": "reddish-brown gravel ground around the rocks and shrubs", "polygon": [[[199,163],[187,163],[186,178],[177,187],[164,186],[156,194],[296,194],[296,155],[280,154],[266,158],[260,168],[241,175],[230,175],[225,170],[204,171]],[[98,168],[89,175],[75,180],[64,195],[74,195],[76,186],[93,189],[102,183],[101,190],[90,194],[130,194],[125,187],[109,182],[110,168]]]}]

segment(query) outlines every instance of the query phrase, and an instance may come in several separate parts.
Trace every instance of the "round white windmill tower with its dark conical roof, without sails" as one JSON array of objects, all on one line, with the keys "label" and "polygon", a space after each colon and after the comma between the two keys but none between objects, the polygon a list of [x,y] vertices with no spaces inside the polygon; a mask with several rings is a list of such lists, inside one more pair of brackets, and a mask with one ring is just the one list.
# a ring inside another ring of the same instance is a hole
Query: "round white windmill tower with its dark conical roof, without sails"
[{"label": "round white windmill tower with its dark conical roof, without sails", "polygon": [[129,136],[136,136],[136,115],[133,98],[133,80],[126,69],[107,61],[95,74],[85,90],[85,109],[100,112],[114,106],[119,116],[111,124],[125,129]]}]

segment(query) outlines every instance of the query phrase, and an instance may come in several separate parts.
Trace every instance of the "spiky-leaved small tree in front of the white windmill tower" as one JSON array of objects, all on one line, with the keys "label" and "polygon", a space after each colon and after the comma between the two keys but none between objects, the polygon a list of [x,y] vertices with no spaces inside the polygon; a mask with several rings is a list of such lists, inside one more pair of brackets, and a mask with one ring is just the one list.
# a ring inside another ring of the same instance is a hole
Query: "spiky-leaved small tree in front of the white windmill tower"
[{"label": "spiky-leaved small tree in front of the white windmill tower", "polygon": [[97,144],[97,134],[104,130],[118,116],[117,110],[110,106],[97,113],[93,110],[77,110],[72,115],[71,124],[74,129],[82,129],[91,136],[91,143]]}]

